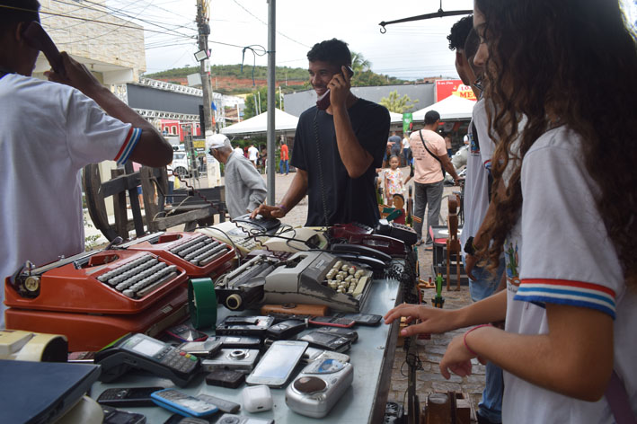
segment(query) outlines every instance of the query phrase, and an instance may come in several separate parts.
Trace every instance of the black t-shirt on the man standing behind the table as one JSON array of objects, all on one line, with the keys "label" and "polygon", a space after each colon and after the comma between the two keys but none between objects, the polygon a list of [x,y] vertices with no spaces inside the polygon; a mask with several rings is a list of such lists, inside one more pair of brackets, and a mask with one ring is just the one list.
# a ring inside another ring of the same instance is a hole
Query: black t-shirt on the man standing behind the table
[{"label": "black t-shirt on the man standing behind the table", "polygon": [[358,99],[349,108],[349,121],[358,143],[374,158],[367,171],[355,179],[349,178],[341,161],[333,116],[325,110],[318,110],[318,114],[316,111],[314,106],[301,114],[292,149],[291,164],[307,172],[308,176],[309,199],[305,226],[325,225],[321,176],[328,225],[349,222],[376,225],[379,213],[374,176],[375,169],[383,164],[389,134],[389,111],[363,99]]}]

